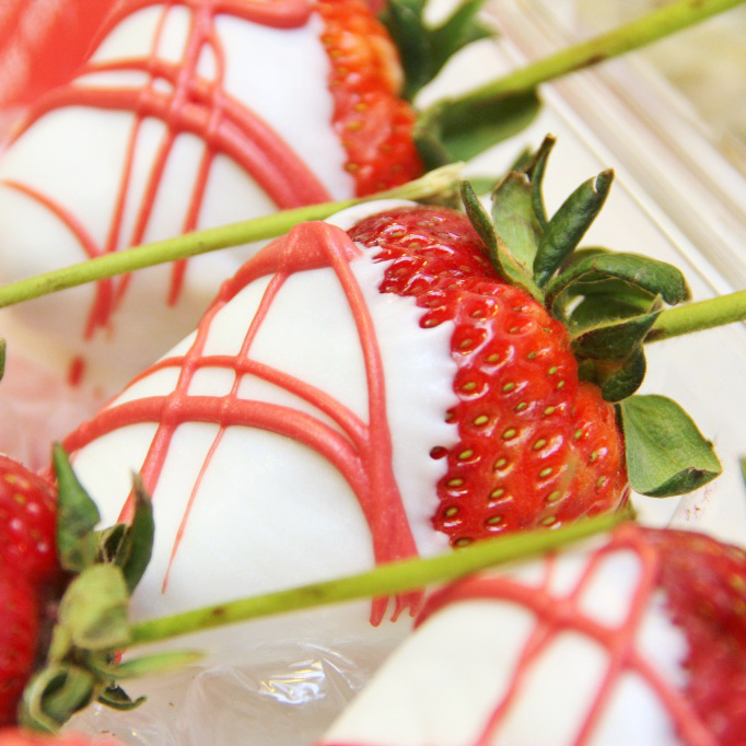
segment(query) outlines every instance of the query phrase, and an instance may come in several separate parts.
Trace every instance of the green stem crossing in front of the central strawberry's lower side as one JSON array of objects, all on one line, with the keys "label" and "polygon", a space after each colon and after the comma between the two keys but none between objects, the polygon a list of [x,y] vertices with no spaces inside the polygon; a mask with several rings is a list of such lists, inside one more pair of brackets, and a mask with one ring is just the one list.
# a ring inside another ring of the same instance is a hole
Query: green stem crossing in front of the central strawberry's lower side
[{"label": "green stem crossing in front of the central strawberry's lower side", "polygon": [[609,531],[628,517],[627,513],[606,514],[552,532],[536,529],[511,534],[479,541],[458,551],[430,559],[403,560],[339,580],[313,583],[288,591],[208,606],[171,617],[141,621],[131,627],[131,644],[170,640],[182,634],[272,614],[413,591],[431,583],[455,580],[494,564],[558,549],[572,541]]}]

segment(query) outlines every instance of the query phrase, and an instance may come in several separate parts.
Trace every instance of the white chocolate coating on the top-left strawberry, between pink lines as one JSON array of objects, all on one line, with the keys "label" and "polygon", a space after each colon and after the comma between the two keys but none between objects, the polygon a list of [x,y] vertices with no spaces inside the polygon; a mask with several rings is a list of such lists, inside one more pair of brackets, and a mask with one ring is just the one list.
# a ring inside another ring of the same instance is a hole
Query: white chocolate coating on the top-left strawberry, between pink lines
[{"label": "white chocolate coating on the top-left strawberry, between pink lines", "polygon": [[[164,66],[175,66],[179,75],[190,74],[188,44],[194,40],[190,24],[197,11],[166,8],[154,4],[125,18],[95,51],[90,62],[94,71],[73,81],[71,90],[135,90],[145,96],[150,88],[176,107],[180,94],[174,81],[165,75],[151,78],[131,63],[150,56]],[[220,120],[224,101],[249,112],[292,148],[330,197],[340,199],[352,196],[353,184],[343,170],[345,153],[331,129],[333,101],[326,88],[329,63],[318,38],[320,28],[315,14],[302,26],[287,30],[219,14],[214,38],[222,67],[219,70],[214,45],[206,45],[193,78],[217,86],[219,96],[203,104],[214,121]],[[104,65],[126,69],[101,70]],[[116,249],[184,232],[209,148],[214,147],[214,152],[194,228],[222,225],[277,209],[223,144],[214,145],[209,129],[214,123],[195,133],[180,125],[172,127],[168,116],[147,116],[135,135],[121,223],[113,241]],[[136,121],[136,113],[126,108],[63,103],[44,113],[12,142],[0,158],[0,280],[13,281],[88,258],[80,235],[40,197],[73,215],[101,250],[109,245]],[[243,133],[235,129],[241,128],[232,124],[225,131],[241,139]],[[171,135],[174,140],[167,144]],[[156,176],[155,193],[149,195],[154,164],[164,148],[171,148],[164,172],[160,179]],[[143,213],[148,208],[152,212]],[[85,382],[116,392],[194,327],[219,283],[254,250],[243,247],[190,260],[173,305],[167,303],[170,268],[138,272],[119,307],[89,338],[94,285],[24,303],[12,310],[11,322],[18,331],[11,341],[16,349],[24,349],[25,339],[37,335],[30,352],[62,371],[73,355],[82,355]]]}]

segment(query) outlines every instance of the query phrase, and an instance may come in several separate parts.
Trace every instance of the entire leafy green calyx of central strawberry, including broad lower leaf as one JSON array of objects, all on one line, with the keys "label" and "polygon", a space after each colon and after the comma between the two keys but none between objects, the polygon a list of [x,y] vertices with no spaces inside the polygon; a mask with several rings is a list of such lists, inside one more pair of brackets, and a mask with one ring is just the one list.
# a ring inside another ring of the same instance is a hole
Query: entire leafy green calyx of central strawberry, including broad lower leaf
[{"label": "entire leafy green calyx of central strawberry, including broad lower leaf", "polygon": [[632,488],[651,497],[691,491],[722,467],[691,418],[663,396],[633,396],[646,370],[643,345],[666,305],[689,299],[681,272],[646,256],[603,247],[575,250],[604,206],[613,172],[581,184],[547,215],[541,184],[555,140],[522,158],[491,194],[491,214],[468,182],[466,213],[493,267],[570,334],[582,380],[614,403]]}]

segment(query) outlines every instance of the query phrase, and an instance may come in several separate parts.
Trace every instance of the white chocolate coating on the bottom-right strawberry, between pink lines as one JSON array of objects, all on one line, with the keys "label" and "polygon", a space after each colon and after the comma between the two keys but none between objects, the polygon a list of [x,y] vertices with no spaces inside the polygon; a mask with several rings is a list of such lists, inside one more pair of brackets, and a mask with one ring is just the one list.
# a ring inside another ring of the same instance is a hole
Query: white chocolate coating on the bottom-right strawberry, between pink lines
[{"label": "white chocolate coating on the bottom-right strawberry, between pink lines", "polygon": [[[642,564],[634,552],[616,550],[605,556],[581,590],[588,556],[566,555],[551,569],[543,561],[505,574],[537,596],[546,593],[556,608],[570,604],[570,614],[617,629],[633,614]],[[541,579],[547,573],[545,584]],[[547,632],[548,641],[541,637]],[[687,642],[671,622],[661,595],[652,596],[633,634],[636,654],[668,686],[680,687]],[[529,657],[527,665],[523,656]],[[610,665],[608,650],[574,623],[561,630],[537,625],[534,613],[517,601],[490,597],[452,603],[403,643],[322,743],[573,746],[580,743]],[[506,709],[489,728],[500,706]],[[639,671],[628,667],[615,679],[583,744],[680,746],[681,742],[656,691]]]}]

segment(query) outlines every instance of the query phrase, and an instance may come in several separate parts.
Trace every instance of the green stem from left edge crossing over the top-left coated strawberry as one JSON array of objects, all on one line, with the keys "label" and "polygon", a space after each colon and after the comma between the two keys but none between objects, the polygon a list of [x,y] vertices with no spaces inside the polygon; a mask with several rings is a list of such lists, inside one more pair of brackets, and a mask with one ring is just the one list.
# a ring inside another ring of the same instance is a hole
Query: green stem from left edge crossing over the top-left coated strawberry
[{"label": "green stem from left edge crossing over the top-left coated strawberry", "polygon": [[436,168],[421,178],[409,182],[396,189],[382,191],[370,197],[346,199],[339,202],[324,202],[294,210],[283,210],[264,218],[254,218],[231,225],[195,231],[176,238],[156,241],[133,246],[121,252],[106,254],[70,267],[62,267],[44,275],[9,282],[0,288],[0,308],[67,290],[88,282],[95,282],[115,275],[124,275],[144,267],[186,259],[219,248],[240,246],[254,241],[273,238],[287,233],[293,225],[308,220],[323,220],[348,207],[375,199],[424,199],[455,189],[462,164],[454,163]]}]

